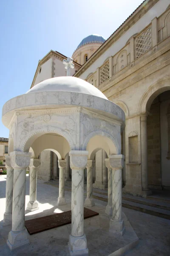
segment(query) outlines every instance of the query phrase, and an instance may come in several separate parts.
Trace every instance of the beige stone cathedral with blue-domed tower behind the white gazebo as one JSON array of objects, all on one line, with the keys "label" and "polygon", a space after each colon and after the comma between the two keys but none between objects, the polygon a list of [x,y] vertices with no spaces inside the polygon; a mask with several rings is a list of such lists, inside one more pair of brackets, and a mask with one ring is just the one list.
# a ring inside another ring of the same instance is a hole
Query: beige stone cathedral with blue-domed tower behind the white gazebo
[{"label": "beige stone cathedral with blue-domed tower behind the white gazebo", "polygon": [[[65,58],[48,52],[31,87],[66,76]],[[123,191],[146,196],[152,189],[170,189],[170,0],[145,0],[107,40],[99,35],[84,38],[72,58],[71,75],[97,87],[125,112]],[[93,186],[101,189],[108,182],[105,158],[106,152],[98,151],[93,169]],[[49,149],[40,159],[38,178],[56,179],[57,155]],[[68,155],[66,160],[69,180]]]}]

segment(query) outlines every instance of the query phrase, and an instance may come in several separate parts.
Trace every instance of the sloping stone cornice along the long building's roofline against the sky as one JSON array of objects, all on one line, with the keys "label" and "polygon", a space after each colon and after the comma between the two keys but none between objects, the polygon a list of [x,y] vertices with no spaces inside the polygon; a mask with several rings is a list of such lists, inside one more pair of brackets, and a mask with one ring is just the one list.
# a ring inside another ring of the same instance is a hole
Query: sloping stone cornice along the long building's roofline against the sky
[{"label": "sloping stone cornice along the long building's roofline against the sky", "polygon": [[74,76],[79,77],[91,64],[96,61],[114,42],[116,42],[127,30],[132,27],[139,19],[145,15],[159,0],[149,0],[143,2],[133,13],[130,17],[125,20],[125,22],[115,31],[113,34],[108,38],[104,44],[102,44],[99,49],[94,52],[94,54],[85,62],[84,65],[74,74]]}]

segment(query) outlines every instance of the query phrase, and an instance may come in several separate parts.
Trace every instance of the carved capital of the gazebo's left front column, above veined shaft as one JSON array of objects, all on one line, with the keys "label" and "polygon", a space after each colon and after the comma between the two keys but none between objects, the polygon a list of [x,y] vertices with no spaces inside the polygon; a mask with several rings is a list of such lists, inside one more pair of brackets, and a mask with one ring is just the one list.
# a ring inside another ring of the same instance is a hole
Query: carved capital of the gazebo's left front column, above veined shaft
[{"label": "carved capital of the gazebo's left front column, above veined shaft", "polygon": [[23,151],[12,151],[10,153],[12,168],[26,168],[30,164],[31,153]]}]

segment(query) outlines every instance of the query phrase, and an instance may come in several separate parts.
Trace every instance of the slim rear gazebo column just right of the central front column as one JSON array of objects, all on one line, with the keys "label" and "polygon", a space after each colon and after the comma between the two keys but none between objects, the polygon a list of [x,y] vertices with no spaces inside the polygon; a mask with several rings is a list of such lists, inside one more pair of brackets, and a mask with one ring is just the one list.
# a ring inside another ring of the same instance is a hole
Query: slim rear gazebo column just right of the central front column
[{"label": "slim rear gazebo column just right of the central front column", "polygon": [[94,199],[92,198],[93,194],[93,167],[94,160],[88,160],[87,162],[87,197],[85,199],[85,206],[92,207],[95,205]]}]

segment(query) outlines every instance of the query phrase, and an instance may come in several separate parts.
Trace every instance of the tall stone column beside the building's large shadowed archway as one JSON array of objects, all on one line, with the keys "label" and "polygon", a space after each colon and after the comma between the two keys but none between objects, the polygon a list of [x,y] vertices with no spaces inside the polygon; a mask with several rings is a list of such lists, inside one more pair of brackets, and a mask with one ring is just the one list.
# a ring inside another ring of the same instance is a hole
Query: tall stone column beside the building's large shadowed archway
[{"label": "tall stone column beside the building's large shadowed archway", "polygon": [[141,116],[141,183],[146,195],[151,194],[147,181],[147,114]]}]

